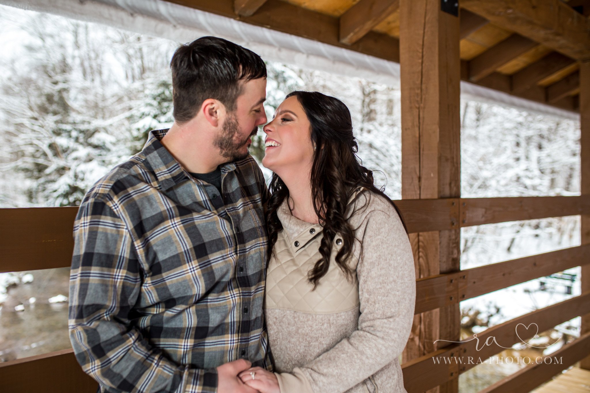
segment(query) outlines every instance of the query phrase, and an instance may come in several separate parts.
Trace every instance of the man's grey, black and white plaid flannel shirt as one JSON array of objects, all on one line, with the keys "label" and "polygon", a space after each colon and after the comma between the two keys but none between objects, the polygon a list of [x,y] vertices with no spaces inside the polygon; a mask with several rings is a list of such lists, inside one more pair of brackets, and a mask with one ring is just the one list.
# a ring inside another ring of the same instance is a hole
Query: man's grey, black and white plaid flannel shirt
[{"label": "man's grey, black and white plaid flannel shirt", "polygon": [[99,180],[74,223],[70,340],[103,392],[216,392],[215,367],[238,358],[273,370],[264,176],[251,156],[223,164],[222,218],[166,131]]}]

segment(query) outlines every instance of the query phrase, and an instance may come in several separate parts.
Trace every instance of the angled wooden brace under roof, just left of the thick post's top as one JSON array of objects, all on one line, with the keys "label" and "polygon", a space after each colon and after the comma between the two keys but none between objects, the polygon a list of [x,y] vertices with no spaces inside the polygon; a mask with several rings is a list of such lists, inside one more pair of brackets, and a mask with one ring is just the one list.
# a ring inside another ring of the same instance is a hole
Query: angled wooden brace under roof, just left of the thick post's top
[{"label": "angled wooden brace under roof, just left of the thick post's top", "polygon": [[399,0],[360,0],[340,16],[340,42],[354,44],[399,9]]}]

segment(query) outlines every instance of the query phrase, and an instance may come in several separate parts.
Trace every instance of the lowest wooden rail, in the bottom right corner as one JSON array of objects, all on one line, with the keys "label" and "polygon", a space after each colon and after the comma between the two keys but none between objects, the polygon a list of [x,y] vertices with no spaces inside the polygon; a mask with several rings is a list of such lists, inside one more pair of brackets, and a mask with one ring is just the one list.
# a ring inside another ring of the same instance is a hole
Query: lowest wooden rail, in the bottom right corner
[{"label": "lowest wooden rail, in the bottom right corner", "polygon": [[590,352],[590,332],[559,348],[550,355],[542,356],[540,364],[531,364],[514,374],[501,379],[480,393],[528,393],[553,375],[584,358]]}]

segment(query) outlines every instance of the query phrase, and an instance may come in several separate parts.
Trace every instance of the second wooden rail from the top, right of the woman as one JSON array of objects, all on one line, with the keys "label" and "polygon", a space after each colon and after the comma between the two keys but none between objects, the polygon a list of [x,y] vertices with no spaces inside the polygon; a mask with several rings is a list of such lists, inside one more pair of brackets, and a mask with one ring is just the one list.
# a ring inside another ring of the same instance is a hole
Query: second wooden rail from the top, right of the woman
[{"label": "second wooden rail from the top, right of the woman", "polygon": [[415,313],[590,263],[590,244],[416,280]]}]

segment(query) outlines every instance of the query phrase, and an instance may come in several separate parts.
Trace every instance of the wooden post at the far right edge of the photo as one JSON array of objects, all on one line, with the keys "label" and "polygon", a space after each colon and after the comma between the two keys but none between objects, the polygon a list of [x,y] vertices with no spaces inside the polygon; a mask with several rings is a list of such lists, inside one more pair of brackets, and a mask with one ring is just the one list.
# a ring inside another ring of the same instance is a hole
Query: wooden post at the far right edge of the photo
[{"label": "wooden post at the far right edge of the photo", "polygon": [[[590,194],[590,61],[580,64],[580,158],[581,193]],[[581,216],[581,244],[590,244],[590,214]],[[590,290],[590,265],[582,265],[582,293]],[[590,314],[582,315],[580,335],[590,332]],[[590,355],[580,361],[580,367],[590,370]]]}]

